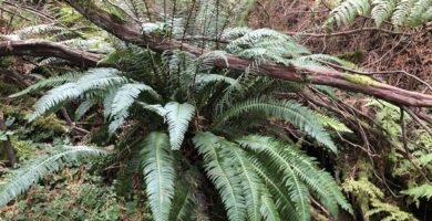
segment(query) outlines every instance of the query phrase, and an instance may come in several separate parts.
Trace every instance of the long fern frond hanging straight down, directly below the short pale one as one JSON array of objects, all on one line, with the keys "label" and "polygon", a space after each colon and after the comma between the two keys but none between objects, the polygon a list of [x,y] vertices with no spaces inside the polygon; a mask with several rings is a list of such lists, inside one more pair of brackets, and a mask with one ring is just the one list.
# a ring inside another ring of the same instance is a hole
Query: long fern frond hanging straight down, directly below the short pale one
[{"label": "long fern frond hanging straight down, directly below the short pale one", "polygon": [[166,134],[153,131],[142,150],[146,193],[156,221],[167,221],[174,198],[174,157]]}]

